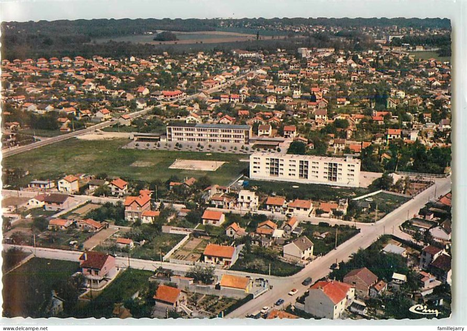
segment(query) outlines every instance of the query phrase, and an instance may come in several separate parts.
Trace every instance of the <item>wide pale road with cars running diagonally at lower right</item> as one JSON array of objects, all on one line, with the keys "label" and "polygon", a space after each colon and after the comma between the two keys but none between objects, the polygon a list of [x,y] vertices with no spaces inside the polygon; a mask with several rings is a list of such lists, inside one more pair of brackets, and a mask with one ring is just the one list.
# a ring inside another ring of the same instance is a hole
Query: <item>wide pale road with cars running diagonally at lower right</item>
[{"label": "wide pale road with cars running diagonally at lower right", "polygon": [[[309,286],[303,286],[301,284],[306,277],[312,277],[313,281],[325,277],[329,274],[330,267],[333,263],[336,263],[336,261],[348,261],[351,254],[357,252],[360,248],[367,248],[382,234],[391,233],[393,226],[396,229],[407,219],[407,212],[409,212],[409,215],[413,215],[422,208],[429,199],[434,198],[435,186],[438,196],[444,195],[451,190],[451,176],[437,179],[435,183],[436,185],[433,185],[429,189],[423,191],[417,197],[409,200],[395,211],[390,212],[374,225],[362,227],[360,234],[347,240],[338,246],[337,249],[312,261],[299,273],[287,277],[279,282],[271,282],[274,285],[272,290],[249,301],[237,310],[228,314],[226,317],[245,317],[249,313],[260,310],[264,306],[272,306],[279,298],[283,298],[285,300],[284,307],[289,303],[294,303],[295,298],[303,295],[309,288]],[[288,295],[288,292],[293,288],[298,289],[298,293],[291,297]]]}]

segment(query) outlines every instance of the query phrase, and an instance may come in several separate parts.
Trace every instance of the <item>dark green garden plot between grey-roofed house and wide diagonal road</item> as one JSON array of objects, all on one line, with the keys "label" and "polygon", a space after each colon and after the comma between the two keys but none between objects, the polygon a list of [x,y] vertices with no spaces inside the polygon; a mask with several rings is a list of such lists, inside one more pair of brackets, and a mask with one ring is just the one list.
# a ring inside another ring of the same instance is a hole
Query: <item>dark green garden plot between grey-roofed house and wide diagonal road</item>
[{"label": "dark green garden plot between grey-roofed house and wide diagonal road", "polygon": [[[324,221],[323,221],[324,222]],[[301,223],[300,226],[303,228],[302,235],[306,236],[313,242],[313,255],[325,255],[334,249],[336,244],[336,229],[337,233],[337,246],[352,238],[354,235],[360,232],[359,229],[355,229],[350,226],[330,226],[330,225],[315,225],[311,223]],[[329,232],[324,239],[318,239],[313,236],[314,232],[325,233]]]}]

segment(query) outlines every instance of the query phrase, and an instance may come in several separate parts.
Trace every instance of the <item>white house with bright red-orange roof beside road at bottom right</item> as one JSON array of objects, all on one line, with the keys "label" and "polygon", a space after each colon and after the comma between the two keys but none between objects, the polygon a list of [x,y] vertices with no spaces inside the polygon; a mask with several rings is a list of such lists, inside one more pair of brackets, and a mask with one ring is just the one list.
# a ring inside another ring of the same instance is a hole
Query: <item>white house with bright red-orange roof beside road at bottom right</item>
[{"label": "white house with bright red-orange roof beside road at bottom right", "polygon": [[305,298],[305,311],[316,317],[337,319],[353,303],[354,297],[355,289],[346,283],[317,282]]}]

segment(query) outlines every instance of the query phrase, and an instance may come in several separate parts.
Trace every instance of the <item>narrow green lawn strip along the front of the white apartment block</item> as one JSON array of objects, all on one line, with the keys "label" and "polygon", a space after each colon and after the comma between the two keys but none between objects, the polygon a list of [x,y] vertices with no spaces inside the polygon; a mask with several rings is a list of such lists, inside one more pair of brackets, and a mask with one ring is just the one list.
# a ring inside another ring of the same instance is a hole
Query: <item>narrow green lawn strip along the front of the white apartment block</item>
[{"label": "narrow green lawn strip along the front of the white apartment block", "polygon": [[[258,191],[270,195],[276,192],[278,196],[284,196],[291,199],[311,199],[311,200],[336,200],[344,197],[359,197],[367,194],[368,189],[364,188],[344,188],[319,184],[301,184],[287,182],[267,182],[251,180],[249,187],[256,186]],[[293,186],[298,186],[294,188]]]}]

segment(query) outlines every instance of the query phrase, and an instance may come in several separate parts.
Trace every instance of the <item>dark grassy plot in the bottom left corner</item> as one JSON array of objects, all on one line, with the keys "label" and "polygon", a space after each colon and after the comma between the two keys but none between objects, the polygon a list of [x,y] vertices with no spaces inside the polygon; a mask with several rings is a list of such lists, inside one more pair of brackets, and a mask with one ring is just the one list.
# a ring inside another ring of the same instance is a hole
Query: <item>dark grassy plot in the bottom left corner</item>
[{"label": "dark grassy plot in the bottom left corner", "polygon": [[78,262],[33,258],[3,276],[4,317],[45,317],[50,291],[78,271]]}]

